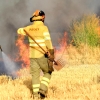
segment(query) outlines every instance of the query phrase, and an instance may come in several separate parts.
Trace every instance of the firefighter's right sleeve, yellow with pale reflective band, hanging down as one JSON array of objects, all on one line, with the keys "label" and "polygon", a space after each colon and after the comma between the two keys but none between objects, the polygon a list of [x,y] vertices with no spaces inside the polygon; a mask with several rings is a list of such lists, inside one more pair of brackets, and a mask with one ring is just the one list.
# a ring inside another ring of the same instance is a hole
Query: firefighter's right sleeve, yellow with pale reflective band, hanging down
[{"label": "firefighter's right sleeve, yellow with pale reflective band, hanging down", "polygon": [[47,27],[45,27],[43,35],[44,35],[45,44],[46,44],[47,48],[53,49],[50,33],[49,33],[49,30]]}]

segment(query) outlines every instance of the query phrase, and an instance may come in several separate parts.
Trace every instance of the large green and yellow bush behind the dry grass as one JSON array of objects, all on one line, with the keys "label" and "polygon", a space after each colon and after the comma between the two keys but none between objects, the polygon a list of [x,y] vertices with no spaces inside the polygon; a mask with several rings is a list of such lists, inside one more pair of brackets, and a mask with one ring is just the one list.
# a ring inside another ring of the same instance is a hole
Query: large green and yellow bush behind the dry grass
[{"label": "large green and yellow bush behind the dry grass", "polygon": [[99,27],[99,17],[95,14],[84,15],[78,20],[72,22],[70,33],[72,44],[80,46],[87,44],[89,46],[100,46],[100,36],[97,28]]}]

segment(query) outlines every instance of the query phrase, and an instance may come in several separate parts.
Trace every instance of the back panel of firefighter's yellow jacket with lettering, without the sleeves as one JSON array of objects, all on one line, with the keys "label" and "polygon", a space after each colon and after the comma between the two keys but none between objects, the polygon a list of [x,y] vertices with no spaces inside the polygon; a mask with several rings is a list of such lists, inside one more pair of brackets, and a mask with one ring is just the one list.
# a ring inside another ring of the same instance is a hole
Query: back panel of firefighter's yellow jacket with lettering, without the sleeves
[{"label": "back panel of firefighter's yellow jacket with lettering, without the sleeves", "polygon": [[[34,24],[25,28],[25,30],[35,39],[35,41],[44,49],[47,50],[44,31],[46,26],[42,21],[36,21]],[[44,55],[43,50],[29,37],[30,57],[39,58]]]}]

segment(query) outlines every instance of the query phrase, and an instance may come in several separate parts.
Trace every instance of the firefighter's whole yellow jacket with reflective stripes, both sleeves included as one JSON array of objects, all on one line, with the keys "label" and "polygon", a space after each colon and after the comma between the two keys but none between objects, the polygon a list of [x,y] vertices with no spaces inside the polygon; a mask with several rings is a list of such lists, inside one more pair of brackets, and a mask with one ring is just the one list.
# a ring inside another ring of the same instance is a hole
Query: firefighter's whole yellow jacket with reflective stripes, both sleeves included
[{"label": "firefighter's whole yellow jacket with reflective stripes, both sleeves included", "polygon": [[[35,21],[32,25],[19,28],[17,33],[26,35],[24,30],[26,30],[45,51],[47,51],[47,49],[53,49],[49,30],[42,21]],[[30,46],[30,58],[42,57],[44,55],[43,50],[30,37],[28,38]]]}]

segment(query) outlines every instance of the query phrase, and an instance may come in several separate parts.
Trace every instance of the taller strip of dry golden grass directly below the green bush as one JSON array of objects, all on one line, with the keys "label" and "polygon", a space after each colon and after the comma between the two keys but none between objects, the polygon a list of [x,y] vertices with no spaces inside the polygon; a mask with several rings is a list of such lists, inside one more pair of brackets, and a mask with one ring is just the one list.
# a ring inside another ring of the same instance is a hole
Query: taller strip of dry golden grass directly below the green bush
[{"label": "taller strip of dry golden grass directly below the green bush", "polygon": [[88,47],[81,45],[76,48],[72,45],[68,46],[65,54],[69,65],[79,64],[100,64],[100,47]]}]

